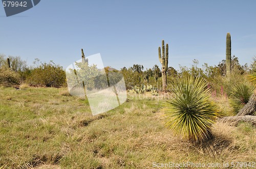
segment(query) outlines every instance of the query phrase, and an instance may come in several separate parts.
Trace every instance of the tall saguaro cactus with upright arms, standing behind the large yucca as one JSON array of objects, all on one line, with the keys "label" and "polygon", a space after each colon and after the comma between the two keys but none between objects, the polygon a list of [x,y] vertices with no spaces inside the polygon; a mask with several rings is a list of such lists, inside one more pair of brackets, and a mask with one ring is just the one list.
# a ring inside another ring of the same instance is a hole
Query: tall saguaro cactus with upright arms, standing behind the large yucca
[{"label": "tall saguaro cactus with upright arms, standing behind the large yucca", "polygon": [[[164,53],[165,52],[165,53]],[[162,81],[163,81],[163,91],[167,92],[167,69],[168,69],[168,44],[166,44],[164,50],[164,40],[162,40],[162,55],[161,55],[161,47],[158,47],[158,57],[159,61],[162,64]]]}]

